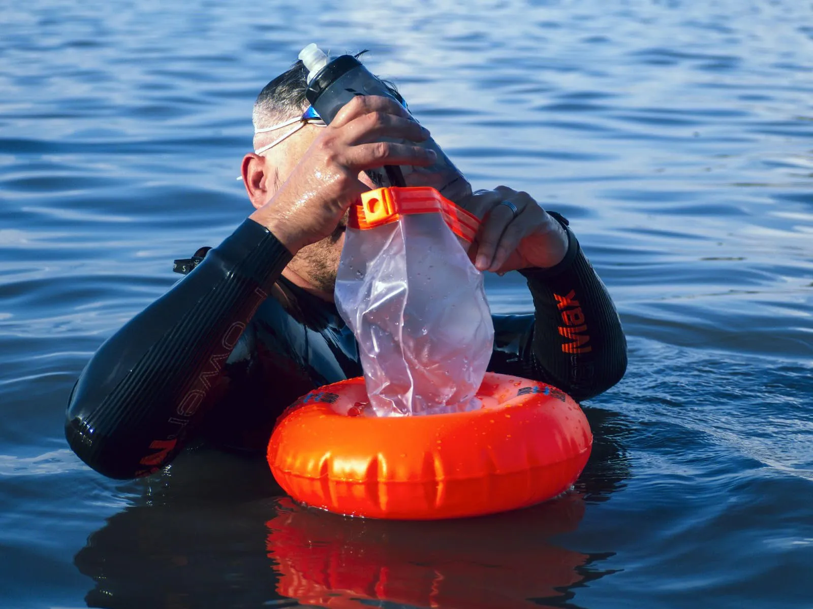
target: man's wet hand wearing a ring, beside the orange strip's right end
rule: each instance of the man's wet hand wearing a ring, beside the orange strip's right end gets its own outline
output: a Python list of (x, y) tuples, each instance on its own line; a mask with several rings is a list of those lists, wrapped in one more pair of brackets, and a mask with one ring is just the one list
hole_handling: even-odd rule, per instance
[[(515, 205), (516, 218), (502, 201)], [(478, 190), (461, 206), (483, 220), (469, 249), (478, 270), (550, 268), (567, 253), (567, 233), (527, 192), (506, 186)]]

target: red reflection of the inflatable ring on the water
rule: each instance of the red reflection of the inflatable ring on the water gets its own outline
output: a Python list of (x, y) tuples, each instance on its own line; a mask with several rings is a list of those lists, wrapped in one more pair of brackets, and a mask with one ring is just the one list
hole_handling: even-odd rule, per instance
[[(277, 592), (303, 605), (368, 609), (361, 600), (417, 607), (506, 609), (563, 598), (590, 557), (548, 539), (585, 512), (571, 493), (533, 508), (465, 520), (363, 520), (279, 503), (267, 524)], [(537, 599), (534, 603), (530, 599)]]

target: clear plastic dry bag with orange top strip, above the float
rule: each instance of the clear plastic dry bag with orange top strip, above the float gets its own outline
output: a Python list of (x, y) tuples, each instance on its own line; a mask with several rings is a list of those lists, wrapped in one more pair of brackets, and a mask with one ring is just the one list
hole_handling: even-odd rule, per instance
[(479, 224), (430, 187), (379, 188), (350, 208), (335, 298), (377, 416), (480, 407), (494, 330), (462, 245)]

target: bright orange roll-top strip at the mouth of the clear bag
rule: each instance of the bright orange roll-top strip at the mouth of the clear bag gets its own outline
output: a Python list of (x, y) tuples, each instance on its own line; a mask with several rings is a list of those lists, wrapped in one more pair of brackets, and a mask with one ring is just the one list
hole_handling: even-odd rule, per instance
[(350, 205), (348, 225), (366, 230), (395, 222), (406, 214), (440, 213), (455, 235), (471, 243), (480, 219), (455, 205), (431, 186), (376, 188), (364, 192), (361, 201)]

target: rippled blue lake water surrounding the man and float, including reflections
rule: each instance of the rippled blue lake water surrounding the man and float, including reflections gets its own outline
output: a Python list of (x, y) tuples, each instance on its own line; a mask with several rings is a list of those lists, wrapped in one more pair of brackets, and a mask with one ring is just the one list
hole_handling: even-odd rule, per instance
[[(810, 2), (4, 4), (2, 607), (813, 607)], [(67, 449), (91, 354), (249, 213), (254, 96), (311, 41), (570, 218), (630, 364), (569, 495), (352, 520), (262, 459), (123, 483)], [(494, 310), (530, 309), (515, 275)]]

